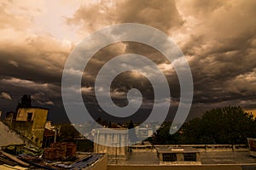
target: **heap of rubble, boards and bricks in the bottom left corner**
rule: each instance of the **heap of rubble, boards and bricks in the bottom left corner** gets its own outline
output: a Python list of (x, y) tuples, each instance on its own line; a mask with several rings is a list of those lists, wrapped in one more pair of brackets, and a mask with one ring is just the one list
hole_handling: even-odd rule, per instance
[[(73, 143), (53, 143), (43, 149), (25, 144), (9, 144), (0, 147), (0, 169), (5, 170), (63, 170), (87, 169), (104, 154), (77, 152)], [(106, 164), (107, 165), (107, 164)]]

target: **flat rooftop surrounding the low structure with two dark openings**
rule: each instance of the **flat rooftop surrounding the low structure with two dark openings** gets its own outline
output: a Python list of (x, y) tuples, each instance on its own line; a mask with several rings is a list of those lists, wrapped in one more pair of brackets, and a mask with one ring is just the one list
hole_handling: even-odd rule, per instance
[(157, 150), (160, 152), (169, 152), (171, 153), (172, 151), (174, 152), (179, 152), (179, 151), (200, 151), (201, 152), (201, 164), (202, 165), (233, 165), (233, 164), (241, 164), (241, 165), (247, 165), (247, 164), (252, 164), (255, 166), (256, 169), (256, 157), (249, 156), (249, 153), (247, 150), (238, 150), (238, 151), (232, 151), (232, 150), (227, 150), (224, 148), (223, 150), (221, 149), (216, 149), (216, 150), (198, 150), (198, 149), (193, 149), (193, 148), (177, 148), (175, 150), (172, 150), (172, 147), (167, 147), (167, 146), (158, 146), (156, 149), (151, 148), (151, 149), (132, 149), (131, 152), (129, 153), (129, 156), (126, 161), (121, 161), (121, 160), (112, 160), (108, 161), (109, 164), (115, 164), (118, 162), (118, 164), (123, 164), (123, 165), (159, 165), (160, 161), (157, 156)]

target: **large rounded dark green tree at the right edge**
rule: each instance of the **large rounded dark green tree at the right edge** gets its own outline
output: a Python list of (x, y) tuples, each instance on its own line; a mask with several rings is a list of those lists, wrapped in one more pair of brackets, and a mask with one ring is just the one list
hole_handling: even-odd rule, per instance
[(241, 107), (227, 106), (204, 112), (183, 126), (184, 140), (191, 144), (247, 144), (256, 138), (253, 115)]

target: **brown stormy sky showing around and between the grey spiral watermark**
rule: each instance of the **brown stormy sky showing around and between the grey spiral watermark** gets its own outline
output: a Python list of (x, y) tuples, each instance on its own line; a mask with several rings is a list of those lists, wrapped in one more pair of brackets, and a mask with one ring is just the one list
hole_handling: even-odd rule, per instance
[[(256, 109), (256, 1), (254, 0), (119, 0), (1, 1), (0, 111), (15, 111), (22, 94), (32, 105), (49, 108), (49, 119), (67, 120), (61, 100), (61, 76), (72, 50), (104, 26), (140, 23), (165, 32), (189, 62), (194, 99), (189, 118), (224, 105)], [(82, 94), (90, 98), (96, 70), (119, 54), (147, 56), (168, 77), (175, 111), (177, 74), (154, 48), (119, 42), (98, 51), (86, 67)], [(85, 73), (86, 71), (84, 71)], [(130, 88), (145, 90), (144, 109), (152, 105), (152, 87), (142, 75), (126, 72), (112, 84), (113, 101), (126, 105)], [(149, 105), (149, 106), (147, 106)], [(172, 117), (172, 116), (171, 116)]]

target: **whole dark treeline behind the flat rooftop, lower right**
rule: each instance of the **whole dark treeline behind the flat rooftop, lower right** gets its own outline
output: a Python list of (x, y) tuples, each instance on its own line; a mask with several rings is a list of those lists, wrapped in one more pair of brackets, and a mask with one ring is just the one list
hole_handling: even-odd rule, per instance
[(206, 111), (172, 135), (171, 124), (164, 122), (147, 140), (153, 144), (247, 144), (247, 138), (256, 138), (253, 115), (236, 106)]

